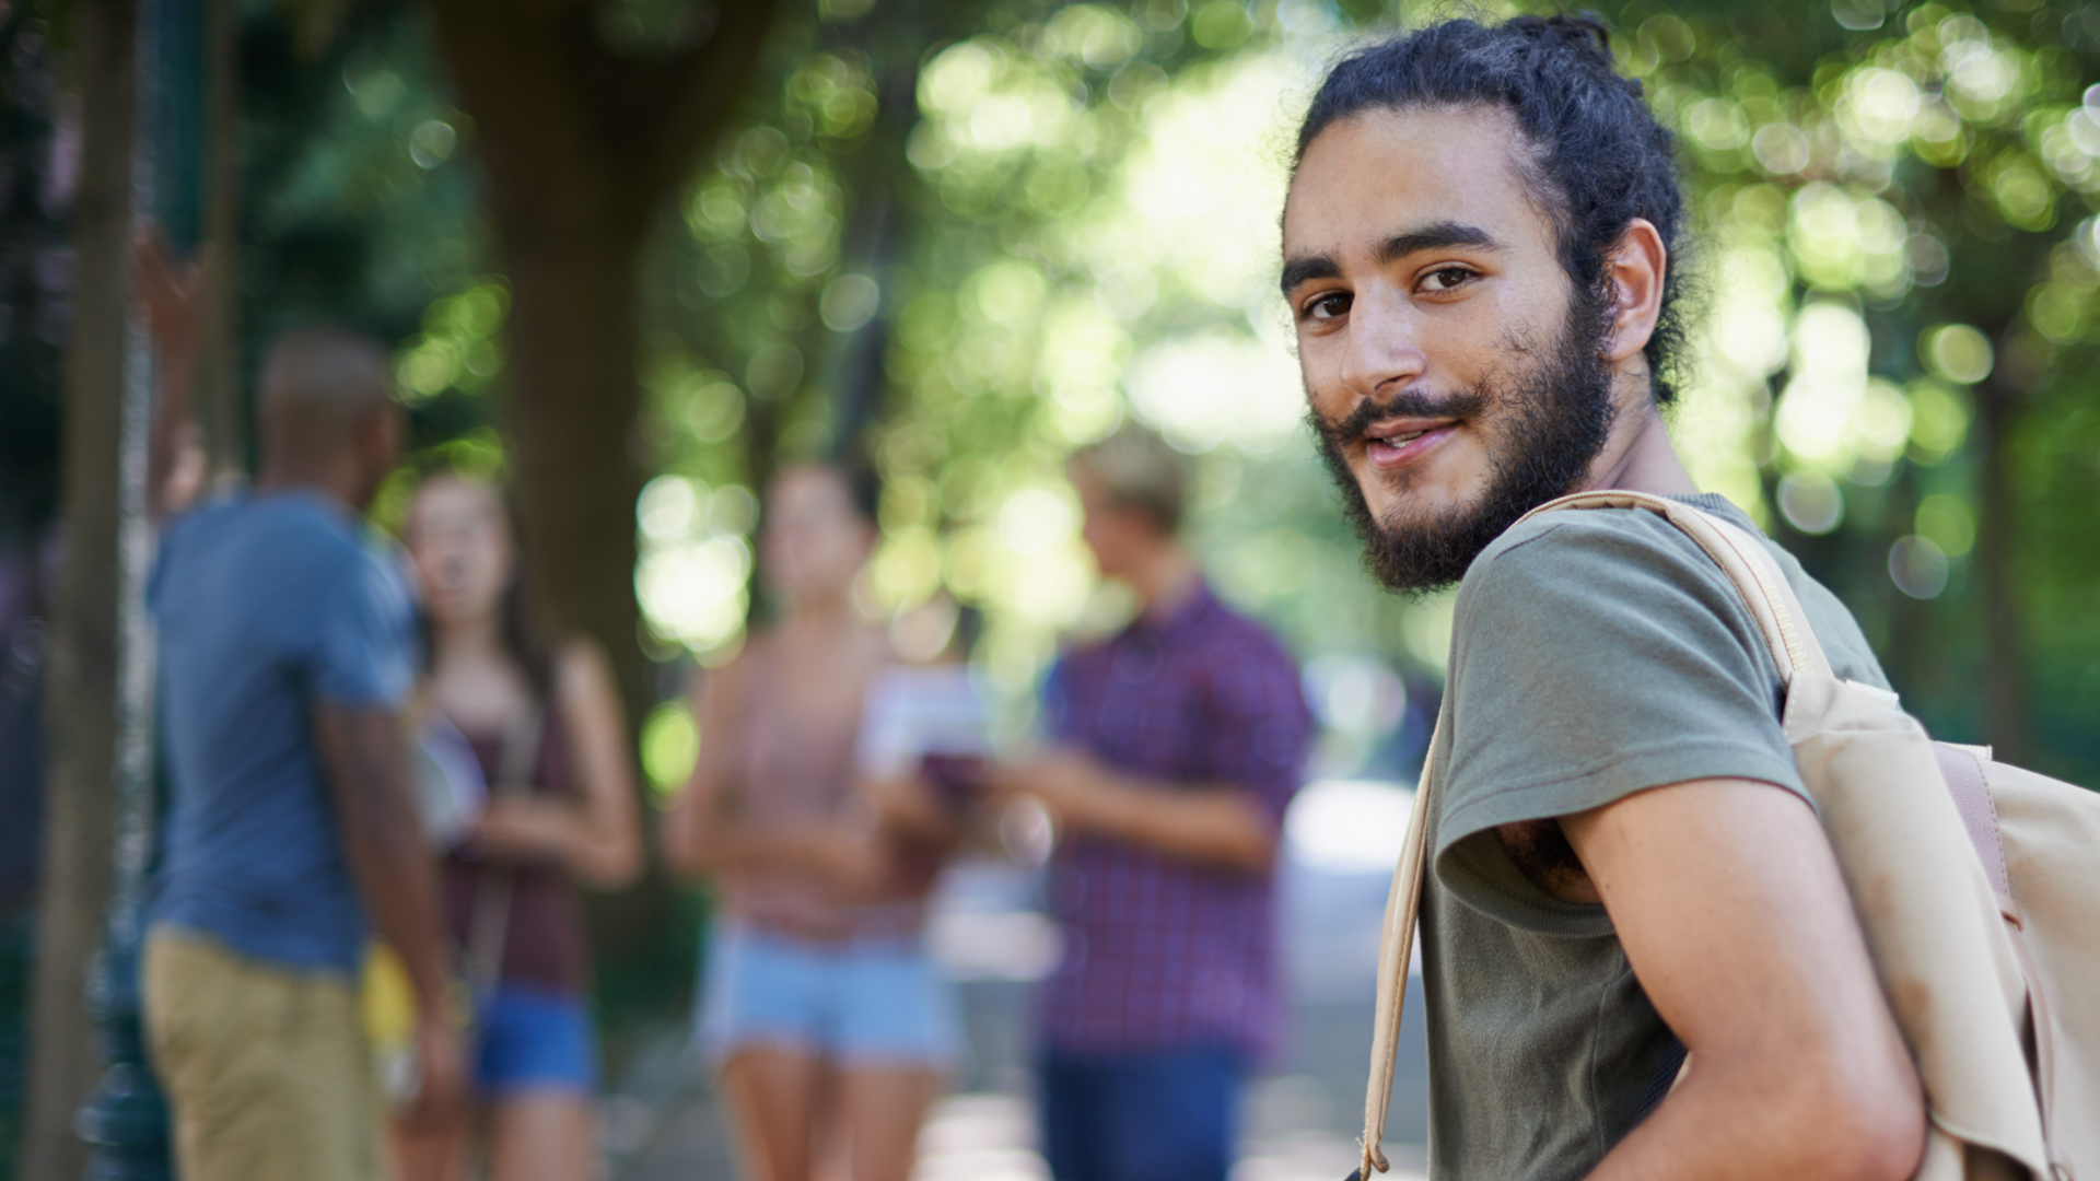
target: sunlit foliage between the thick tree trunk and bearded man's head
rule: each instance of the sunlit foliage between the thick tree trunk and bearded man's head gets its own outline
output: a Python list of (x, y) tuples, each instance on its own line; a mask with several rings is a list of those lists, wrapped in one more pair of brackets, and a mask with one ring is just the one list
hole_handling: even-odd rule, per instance
[[(842, 44), (846, 29), (821, 23), (783, 34), (800, 63), (777, 69), (779, 97), (760, 92), (750, 126), (724, 137), (716, 166), (695, 179), (682, 210), (689, 254), (659, 267), (672, 279), (664, 303), (695, 315), (659, 313), (670, 330), (655, 338), (651, 435), (687, 485), (729, 481), (746, 494), (769, 471), (754, 448), (773, 462), (838, 450), (840, 393), (855, 380), (844, 366), (867, 364), (844, 343), (861, 330), (863, 301), (880, 296), (886, 414), (861, 450), (886, 475), (888, 496), (869, 597), (886, 609), (932, 595), (985, 607), (983, 658), (1023, 698), (1058, 635), (1107, 609), (1092, 603), (1060, 458), (1124, 418), (1126, 370), (1140, 410), (1170, 416), (1178, 441), (1224, 448), (1205, 475), (1212, 485), (1237, 479), (1243, 452), (1296, 450), (1296, 378), (1266, 305), (1273, 204), (1233, 193), (1222, 216), (1174, 208), (1231, 189), (1250, 162), (1270, 172), (1258, 191), (1281, 195), (1264, 137), (1277, 122), (1281, 67), (1256, 59), (1262, 67), (1250, 74), (1233, 57), (1279, 25), (1237, 4), (1199, 8), (1191, 21), (1172, 2), (934, 17), (909, 53), (859, 57)], [(953, 42), (926, 32), (943, 19)], [(884, 8), (867, 21), (909, 27)], [(867, 168), (853, 160), (865, 156), (861, 143), (827, 139), (811, 111), (825, 86), (901, 107), (878, 103), (869, 130), (901, 116), (907, 166)], [(865, 109), (863, 99), (825, 92)], [(1195, 149), (1161, 145), (1168, 137), (1147, 122), (1149, 109), (1178, 120), (1172, 132)], [(1205, 168), (1201, 179), (1180, 174), (1191, 162)], [(863, 263), (850, 258), (848, 227), (876, 202), (903, 223), (903, 242)], [(1210, 378), (1222, 387), (1201, 389)], [(1237, 401), (1220, 408), (1220, 393)], [(1338, 542), (1308, 551), (1334, 574), (1315, 590), (1334, 595), (1298, 601), (1340, 595), (1357, 616), (1384, 609), (1354, 576), (1334, 513), (1321, 511), (1317, 473), (1302, 454), (1279, 462), (1294, 473), (1294, 502), (1312, 509), (1279, 517), (1279, 530), (1296, 536), (1315, 517), (1310, 527)], [(691, 500), (662, 488), (645, 496), (645, 607), (666, 637), (699, 639), (704, 660), (720, 658), (737, 643), (737, 612), (695, 586), (731, 595), (735, 582), (741, 595), (733, 576), (748, 569), (748, 546), (724, 544), (706, 515), (680, 517), (695, 521), (691, 534), (651, 525), (672, 517), (649, 513), (657, 496)], [(1260, 561), (1237, 569), (1258, 605), (1292, 599)], [(1300, 639), (1321, 637), (1308, 628)]]

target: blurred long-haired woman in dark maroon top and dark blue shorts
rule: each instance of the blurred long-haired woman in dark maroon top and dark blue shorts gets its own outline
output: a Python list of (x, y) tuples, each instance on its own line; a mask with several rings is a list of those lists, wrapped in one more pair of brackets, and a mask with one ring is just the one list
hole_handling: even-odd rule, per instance
[(605, 654), (544, 645), (498, 490), (426, 477), (407, 511), (424, 593), (424, 746), (466, 759), (479, 801), (445, 855), (445, 918), (475, 986), (475, 1107), (452, 1126), (397, 1126), (403, 1181), (464, 1179), (477, 1141), (494, 1181), (594, 1177), (596, 1044), (575, 887), (640, 870), (626, 723)]

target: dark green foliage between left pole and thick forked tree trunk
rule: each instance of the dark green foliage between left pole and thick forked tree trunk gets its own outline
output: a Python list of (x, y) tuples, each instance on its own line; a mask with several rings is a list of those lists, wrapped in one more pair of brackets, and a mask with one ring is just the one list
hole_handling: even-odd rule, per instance
[(244, 389), (279, 332), (332, 319), (401, 349), (418, 450), (487, 431), (508, 288), (485, 275), (472, 120), (401, 0), (298, 34), (269, 8), (242, 25)]

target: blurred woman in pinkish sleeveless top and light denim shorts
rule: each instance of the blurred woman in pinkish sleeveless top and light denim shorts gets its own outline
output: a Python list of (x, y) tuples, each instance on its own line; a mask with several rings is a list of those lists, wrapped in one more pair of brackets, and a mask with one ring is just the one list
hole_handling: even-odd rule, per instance
[[(664, 817), (664, 859), (720, 891), (699, 1038), (754, 1181), (905, 1181), (960, 1036), (924, 950), (953, 824), (855, 748), (897, 658), (853, 607), (876, 492), (796, 467), (766, 492), (758, 569), (777, 626), (701, 683), (701, 759)], [(830, 1168), (825, 1168), (830, 1173)]]

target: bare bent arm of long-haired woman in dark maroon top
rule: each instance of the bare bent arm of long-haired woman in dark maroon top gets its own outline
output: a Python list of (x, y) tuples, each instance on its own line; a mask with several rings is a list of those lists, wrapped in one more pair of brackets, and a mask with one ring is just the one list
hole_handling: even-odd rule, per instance
[(640, 811), (620, 691), (594, 643), (578, 641), (561, 651), (554, 710), (569, 738), (580, 799), (496, 801), (475, 822), (475, 847), (494, 855), (550, 857), (582, 885), (620, 889), (643, 868)]

